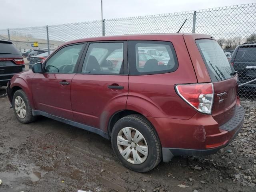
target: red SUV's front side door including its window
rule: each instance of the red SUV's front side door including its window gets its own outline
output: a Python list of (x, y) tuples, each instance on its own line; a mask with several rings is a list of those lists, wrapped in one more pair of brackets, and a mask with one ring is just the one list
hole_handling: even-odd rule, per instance
[(73, 120), (70, 84), (77, 70), (84, 44), (65, 46), (44, 63), (42, 73), (35, 74), (32, 94), (36, 110)]

